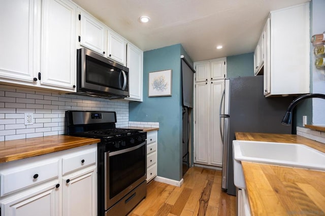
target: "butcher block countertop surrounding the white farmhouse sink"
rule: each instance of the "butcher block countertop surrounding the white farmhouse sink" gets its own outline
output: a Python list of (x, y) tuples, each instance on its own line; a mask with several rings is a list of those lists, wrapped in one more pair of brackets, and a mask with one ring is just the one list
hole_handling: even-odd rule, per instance
[[(236, 132), (237, 140), (325, 144), (292, 134)], [(290, 153), (288, 153), (290, 154)], [(325, 172), (242, 162), (252, 215), (325, 215)]]

